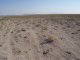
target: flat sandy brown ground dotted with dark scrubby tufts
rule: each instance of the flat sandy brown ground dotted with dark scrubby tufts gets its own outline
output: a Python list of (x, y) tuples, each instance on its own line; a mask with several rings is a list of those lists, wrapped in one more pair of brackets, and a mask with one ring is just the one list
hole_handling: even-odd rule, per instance
[(80, 15), (0, 17), (0, 60), (80, 60)]

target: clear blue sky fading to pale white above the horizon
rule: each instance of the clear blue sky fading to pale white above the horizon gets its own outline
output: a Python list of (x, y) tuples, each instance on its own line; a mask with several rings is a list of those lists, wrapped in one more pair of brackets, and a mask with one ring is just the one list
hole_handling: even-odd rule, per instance
[(0, 15), (80, 14), (80, 0), (0, 0)]

